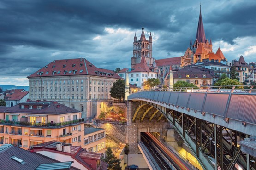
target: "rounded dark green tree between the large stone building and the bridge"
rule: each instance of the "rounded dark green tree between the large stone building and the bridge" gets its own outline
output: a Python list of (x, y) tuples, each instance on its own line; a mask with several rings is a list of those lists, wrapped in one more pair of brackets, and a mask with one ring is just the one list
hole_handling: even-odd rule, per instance
[(122, 98), (125, 98), (125, 80), (116, 80), (109, 92), (111, 97), (121, 101)]

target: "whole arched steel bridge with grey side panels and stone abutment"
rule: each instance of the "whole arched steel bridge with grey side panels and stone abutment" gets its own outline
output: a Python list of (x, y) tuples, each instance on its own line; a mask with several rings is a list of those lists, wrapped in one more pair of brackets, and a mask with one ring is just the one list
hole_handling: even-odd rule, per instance
[(250, 89), (171, 89), (128, 97), (127, 141), (138, 154), (141, 132), (170, 125), (205, 170), (256, 170), (256, 93)]

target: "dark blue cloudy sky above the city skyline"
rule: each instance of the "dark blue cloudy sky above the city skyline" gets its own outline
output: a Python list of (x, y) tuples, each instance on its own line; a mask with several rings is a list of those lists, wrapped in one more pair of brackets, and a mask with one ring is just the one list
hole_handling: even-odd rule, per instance
[[(256, 62), (256, 1), (201, 0), (206, 38), (228, 61)], [(0, 84), (58, 59), (85, 57), (99, 68), (129, 68), (142, 24), (155, 59), (182, 56), (195, 40), (200, 0), (1, 0)]]

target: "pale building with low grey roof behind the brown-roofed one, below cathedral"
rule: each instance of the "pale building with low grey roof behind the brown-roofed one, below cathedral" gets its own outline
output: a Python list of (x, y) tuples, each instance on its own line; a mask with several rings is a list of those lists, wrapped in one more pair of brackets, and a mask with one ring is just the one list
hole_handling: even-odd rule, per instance
[(228, 78), (230, 78), (230, 66), (226, 65), (226, 62), (220, 63), (220, 62), (209, 62), (208, 59), (203, 60), (202, 62), (197, 62), (195, 64), (191, 64), (186, 67), (198, 67), (198, 68), (208, 68), (213, 70), (214, 76), (212, 77), (212, 84), (218, 81), (218, 79), (221, 77), (222, 74), (226, 74)]

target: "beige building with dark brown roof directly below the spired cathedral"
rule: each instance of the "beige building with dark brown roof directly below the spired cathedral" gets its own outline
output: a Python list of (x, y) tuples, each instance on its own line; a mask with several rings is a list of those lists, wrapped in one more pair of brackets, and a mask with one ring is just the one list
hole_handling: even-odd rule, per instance
[(212, 85), (213, 70), (208, 68), (184, 67), (173, 73), (173, 84), (177, 81), (193, 83), (197, 87)]

